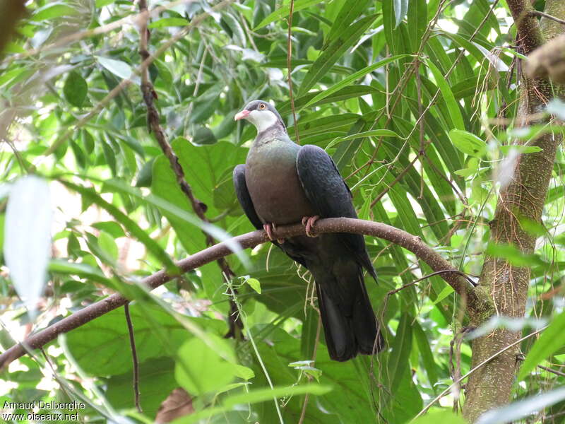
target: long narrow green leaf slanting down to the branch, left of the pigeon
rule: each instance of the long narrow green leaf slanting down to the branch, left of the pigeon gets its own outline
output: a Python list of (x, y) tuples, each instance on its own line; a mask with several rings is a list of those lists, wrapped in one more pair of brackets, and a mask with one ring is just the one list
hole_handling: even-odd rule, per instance
[(88, 201), (90, 201), (91, 203), (97, 204), (101, 208), (105, 209), (110, 215), (117, 219), (119, 223), (121, 223), (121, 225), (124, 225), (124, 227), (131, 233), (131, 235), (142, 242), (143, 245), (147, 247), (148, 251), (161, 261), (167, 271), (169, 271), (170, 273), (177, 272), (177, 266), (174, 264), (167, 252), (165, 252), (165, 250), (162, 249), (162, 247), (160, 247), (160, 245), (155, 242), (155, 240), (153, 240), (147, 234), (147, 232), (142, 230), (134, 220), (129, 218), (129, 216), (126, 216), (125, 213), (121, 212), (119, 208), (102, 199), (102, 197), (100, 197), (100, 195), (97, 194), (93, 189), (81, 187), (77, 184), (73, 184), (72, 182), (68, 182), (63, 179), (60, 179), (59, 181), (66, 187), (69, 187), (69, 189), (80, 193), (83, 198), (88, 199)]

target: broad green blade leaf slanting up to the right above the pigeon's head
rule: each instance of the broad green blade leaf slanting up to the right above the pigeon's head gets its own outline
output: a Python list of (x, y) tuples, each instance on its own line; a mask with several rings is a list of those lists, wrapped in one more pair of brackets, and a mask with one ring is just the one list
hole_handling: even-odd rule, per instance
[(338, 61), (343, 53), (345, 53), (347, 49), (359, 40), (362, 33), (371, 26), (371, 23), (373, 23), (375, 19), (376, 15), (361, 18), (353, 25), (345, 28), (343, 33), (337, 35), (337, 38), (331, 42), (328, 48), (325, 49), (320, 57), (314, 61), (314, 64), (310, 66), (310, 69), (306, 76), (304, 76), (304, 80), (302, 80), (302, 84), (298, 90), (299, 95), (304, 95), (314, 86), (315, 83), (320, 81), (320, 79), (326, 75), (331, 66)]

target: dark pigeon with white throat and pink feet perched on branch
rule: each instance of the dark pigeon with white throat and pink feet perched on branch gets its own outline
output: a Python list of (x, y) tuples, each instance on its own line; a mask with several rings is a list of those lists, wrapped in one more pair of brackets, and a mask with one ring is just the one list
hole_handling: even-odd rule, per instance
[[(246, 163), (234, 168), (239, 204), (257, 229), (288, 257), (306, 267), (316, 282), (326, 346), (332, 360), (384, 348), (363, 270), (376, 281), (362, 235), (315, 234), (319, 218), (357, 218), (349, 187), (322, 148), (299, 146), (287, 134), (283, 119), (263, 100), (249, 102), (234, 117), (257, 129)], [(277, 225), (302, 222), (307, 235), (276, 240)]]

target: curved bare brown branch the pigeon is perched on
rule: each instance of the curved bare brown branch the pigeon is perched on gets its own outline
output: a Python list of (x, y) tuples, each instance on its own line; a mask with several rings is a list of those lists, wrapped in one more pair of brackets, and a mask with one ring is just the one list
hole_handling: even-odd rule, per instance
[[(314, 229), (317, 234), (323, 232), (352, 232), (372, 235), (404, 247), (428, 264), (434, 271), (442, 271), (441, 278), (451, 285), (453, 290), (466, 300), (467, 307), (471, 312), (488, 312), (491, 310), (489, 298), (487, 298), (486, 295), (482, 295), (480, 288), (473, 288), (472, 285), (465, 280), (465, 278), (460, 276), (460, 271), (453, 269), (453, 266), (451, 266), (448, 261), (441, 257), (441, 255), (432, 249), (432, 247), (429, 247), (422, 242), (420, 237), (411, 235), (410, 233), (398, 228), (391, 227), (391, 225), (353, 218), (321, 219), (316, 222)], [(304, 225), (302, 224), (280, 226), (274, 231), (275, 238), (278, 239), (304, 234)], [(261, 243), (268, 242), (268, 237), (266, 232), (263, 230), (257, 230), (233, 237), (231, 241), (239, 243), (243, 249), (246, 249), (248, 247), (255, 247)], [(221, 242), (179, 261), (177, 266), (182, 270), (182, 272), (186, 272), (191, 269), (198, 268), (198, 266), (208, 264), (208, 262), (218, 260), (231, 253), (232, 250), (227, 247), (227, 243)], [(446, 272), (448, 270), (452, 270), (453, 272)], [(153, 290), (173, 278), (175, 278), (174, 275), (169, 275), (162, 270), (144, 278), (141, 284), (144, 284)], [(36, 349), (40, 346), (44, 346), (44, 344), (57, 338), (59, 334), (76, 329), (77, 327), (86, 324), (87, 322), (90, 322), (111, 310), (125, 305), (127, 302), (129, 302), (127, 298), (116, 293), (95, 302), (92, 305), (88, 305), (83, 310), (61, 319), (61, 321), (48, 326), (46, 329), (37, 331), (37, 333), (28, 336), (23, 343), (18, 343), (17, 345), (12, 346), (0, 355), (0, 370), (4, 369), (4, 367), (13, 360), (24, 355), (26, 349)]]

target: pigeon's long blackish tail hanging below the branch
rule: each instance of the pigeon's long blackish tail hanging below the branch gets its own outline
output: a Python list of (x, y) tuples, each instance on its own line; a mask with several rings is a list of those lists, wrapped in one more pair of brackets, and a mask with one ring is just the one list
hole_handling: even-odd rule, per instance
[(333, 360), (349, 360), (357, 353), (371, 355), (384, 347), (362, 269), (356, 268), (354, 275), (347, 273), (350, 278), (336, 277), (327, 272), (317, 278), (314, 275), (323, 332)]

